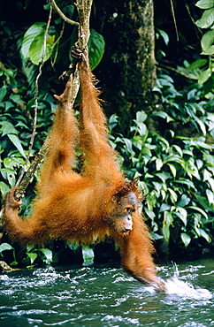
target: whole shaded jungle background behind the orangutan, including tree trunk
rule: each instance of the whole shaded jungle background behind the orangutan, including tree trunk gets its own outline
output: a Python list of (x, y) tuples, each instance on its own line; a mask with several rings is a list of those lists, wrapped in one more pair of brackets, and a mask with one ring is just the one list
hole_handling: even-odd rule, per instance
[[(77, 19), (71, 1), (57, 5)], [(1, 2), (1, 199), (15, 185), (27, 154), (49, 11), (42, 0)], [(103, 91), (110, 141), (127, 177), (139, 179), (146, 195), (142, 210), (159, 258), (197, 257), (213, 250), (213, 12), (213, 0), (176, 0), (173, 8), (169, 0), (95, 0), (92, 8), (89, 56)], [(50, 130), (53, 95), (63, 90), (58, 77), (70, 64), (76, 35), (73, 26), (52, 13), (31, 159)], [(23, 216), (29, 214), (36, 179), (37, 174), (23, 199)], [(119, 261), (111, 241), (93, 249), (97, 263)], [(20, 247), (3, 234), (0, 255), (23, 266), (81, 263), (90, 260), (91, 251), (62, 241)]]

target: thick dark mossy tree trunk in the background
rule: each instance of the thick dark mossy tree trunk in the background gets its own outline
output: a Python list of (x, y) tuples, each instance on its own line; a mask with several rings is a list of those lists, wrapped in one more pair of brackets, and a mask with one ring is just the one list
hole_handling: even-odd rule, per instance
[[(95, 0), (96, 30), (106, 42), (96, 70), (107, 100), (107, 114), (149, 112), (155, 103), (155, 32), (152, 0)], [(126, 112), (125, 112), (126, 111)]]

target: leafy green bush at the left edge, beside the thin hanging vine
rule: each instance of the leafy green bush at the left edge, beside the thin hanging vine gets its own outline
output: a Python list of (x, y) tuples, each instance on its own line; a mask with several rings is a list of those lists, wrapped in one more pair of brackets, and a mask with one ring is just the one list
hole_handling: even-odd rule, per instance
[[(21, 167), (25, 163), (28, 142), (32, 133), (34, 98), (27, 83), (20, 82), (17, 72), (2, 67), (2, 88), (0, 93), (0, 135), (1, 135), (1, 175), (0, 192), (3, 197), (10, 187), (15, 185)], [(28, 95), (29, 93), (30, 95)], [(34, 153), (42, 146), (42, 139), (48, 134), (51, 124), (51, 107), (48, 99), (42, 95), (39, 104), (37, 133), (39, 138), (34, 144)]]

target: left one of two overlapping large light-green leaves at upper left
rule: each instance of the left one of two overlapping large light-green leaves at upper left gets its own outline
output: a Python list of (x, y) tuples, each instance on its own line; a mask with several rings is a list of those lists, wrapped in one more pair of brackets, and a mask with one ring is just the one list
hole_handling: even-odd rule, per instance
[(24, 35), (21, 45), (21, 53), (24, 58), (30, 57), (29, 55), (30, 46), (34, 41), (34, 39), (36, 38), (36, 36), (42, 33), (43, 27), (45, 27), (45, 23), (37, 22), (27, 29), (27, 32)]

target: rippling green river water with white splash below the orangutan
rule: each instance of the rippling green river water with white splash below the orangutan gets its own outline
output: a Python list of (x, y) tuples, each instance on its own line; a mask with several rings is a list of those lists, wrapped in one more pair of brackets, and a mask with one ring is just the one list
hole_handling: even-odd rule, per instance
[(118, 268), (0, 274), (0, 326), (214, 326), (214, 260), (161, 265), (167, 293)]

